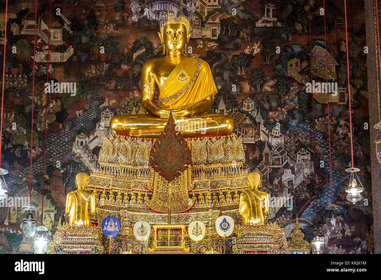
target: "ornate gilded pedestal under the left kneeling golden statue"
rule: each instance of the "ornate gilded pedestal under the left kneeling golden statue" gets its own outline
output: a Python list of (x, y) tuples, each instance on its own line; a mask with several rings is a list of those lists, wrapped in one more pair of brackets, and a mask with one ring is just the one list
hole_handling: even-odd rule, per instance
[(101, 254), (99, 227), (69, 226), (64, 223), (53, 237), (51, 254)]

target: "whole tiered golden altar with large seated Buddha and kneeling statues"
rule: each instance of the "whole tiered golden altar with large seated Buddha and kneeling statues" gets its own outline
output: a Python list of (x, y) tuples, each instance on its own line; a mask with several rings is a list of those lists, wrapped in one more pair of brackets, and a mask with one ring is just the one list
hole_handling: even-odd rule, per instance
[[(147, 114), (110, 120), (116, 134), (102, 137), (99, 167), (77, 174), (78, 190), (67, 195), (69, 226), (89, 234), (91, 224), (101, 226), (109, 253), (231, 253), (237, 231), (235, 253), (286, 253), (283, 230), (265, 226), (269, 197), (259, 173), (244, 168), (234, 119), (207, 113), (217, 88), (207, 62), (184, 56), (190, 35), (186, 18), (167, 15), (159, 32), (166, 55), (142, 67)], [(199, 229), (190, 238), (191, 222), (205, 238), (197, 239)]]

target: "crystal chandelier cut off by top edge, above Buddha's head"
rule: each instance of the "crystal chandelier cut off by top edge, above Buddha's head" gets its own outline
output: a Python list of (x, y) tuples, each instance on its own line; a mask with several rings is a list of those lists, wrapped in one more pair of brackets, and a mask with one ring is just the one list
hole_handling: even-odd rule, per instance
[[(186, 14), (183, 10), (186, 10)], [(177, 18), (180, 14), (185, 16), (189, 22), (194, 21), (196, 11), (196, 0), (186, 0), (184, 5), (182, 0), (131, 0), (132, 20), (137, 22), (139, 18), (147, 16), (149, 20), (160, 22)], [(143, 10), (143, 14), (140, 12)], [(171, 13), (168, 13), (171, 12)]]

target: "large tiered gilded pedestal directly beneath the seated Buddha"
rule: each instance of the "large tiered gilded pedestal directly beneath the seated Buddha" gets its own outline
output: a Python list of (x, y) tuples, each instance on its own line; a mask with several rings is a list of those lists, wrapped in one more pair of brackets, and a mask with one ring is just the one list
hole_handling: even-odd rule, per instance
[[(249, 188), (247, 170), (243, 168), (245, 154), (242, 138), (236, 135), (186, 138), (191, 149), (191, 165), (180, 177), (171, 182), (171, 222), (187, 226), (192, 221), (209, 221), (209, 193), (213, 194), (213, 221), (218, 216), (228, 215), (236, 224), (240, 223), (239, 195)], [(99, 168), (89, 177), (87, 189), (96, 197), (96, 215), (91, 218), (101, 224), (107, 216), (115, 216), (121, 221), (127, 219), (132, 224), (139, 220), (154, 225), (168, 224), (169, 186), (165, 178), (149, 164), (150, 150), (157, 139), (133, 138), (120, 135), (103, 136), (99, 152)], [(123, 197), (126, 194), (126, 210)], [(118, 198), (119, 197), (119, 198)], [(184, 205), (184, 201), (186, 205)], [(156, 203), (153, 203), (156, 202)], [(184, 211), (186, 210), (186, 211)], [(126, 212), (126, 218), (124, 213)], [(226, 251), (231, 251), (234, 234), (226, 239)], [(183, 235), (190, 252), (195, 253), (195, 243), (188, 234)], [(101, 243), (108, 248), (108, 240), (100, 234)], [(171, 235), (171, 246), (179, 242), (179, 237)], [(143, 253), (155, 244), (154, 230)], [(141, 252), (141, 242), (132, 233), (122, 234), (113, 239), (111, 252)], [(197, 246), (198, 253), (211, 250), (211, 237), (205, 238)], [(213, 237), (213, 250), (223, 248), (223, 238)]]

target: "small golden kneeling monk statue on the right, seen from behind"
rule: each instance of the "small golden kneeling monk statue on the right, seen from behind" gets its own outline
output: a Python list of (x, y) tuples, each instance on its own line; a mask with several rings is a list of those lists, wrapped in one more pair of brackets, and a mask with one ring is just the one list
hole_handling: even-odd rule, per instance
[(242, 192), (239, 201), (242, 226), (263, 226), (266, 222), (263, 213), (269, 213), (269, 196), (267, 192), (258, 189), (261, 184), (261, 175), (258, 172), (249, 173), (247, 178), (250, 190)]

